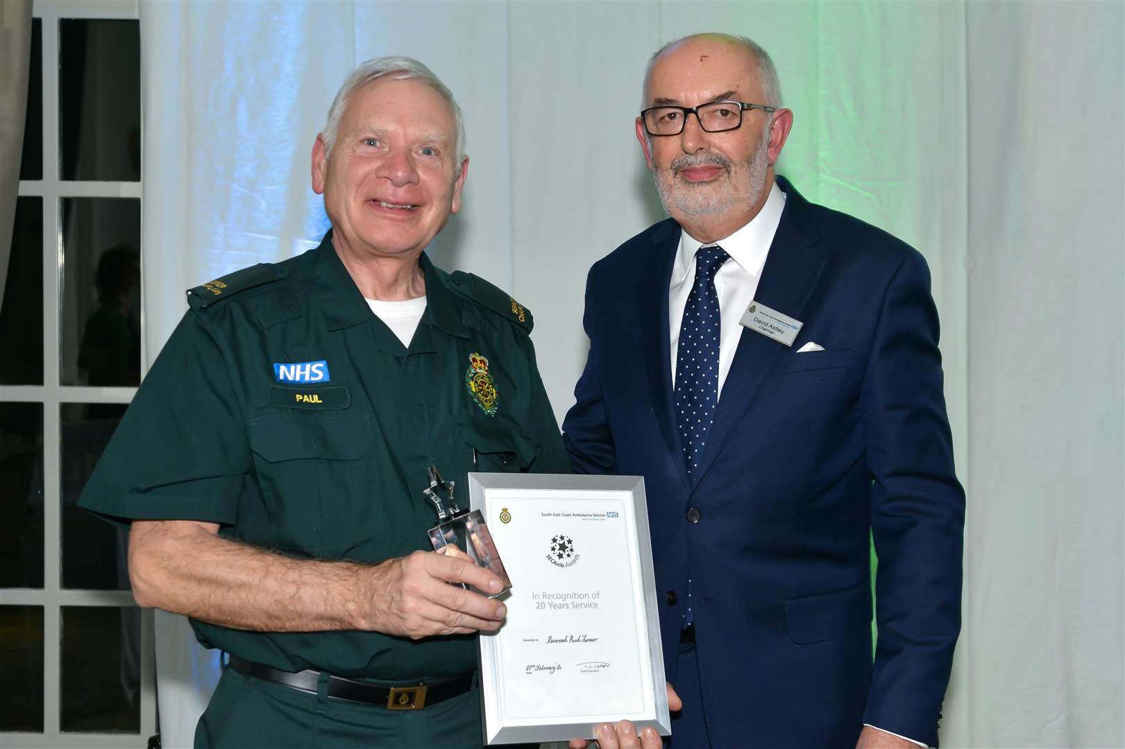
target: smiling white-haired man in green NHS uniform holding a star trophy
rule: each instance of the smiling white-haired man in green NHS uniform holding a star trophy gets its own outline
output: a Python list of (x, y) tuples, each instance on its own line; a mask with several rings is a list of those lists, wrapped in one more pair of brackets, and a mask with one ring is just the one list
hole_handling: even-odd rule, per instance
[[(569, 464), (528, 334), (496, 287), (423, 250), (460, 208), (460, 110), (374, 60), (313, 148), (318, 247), (191, 289), (81, 505), (132, 522), (134, 596), (231, 667), (197, 747), (469, 747), (490, 571), (432, 551), (428, 466)], [(466, 504), (466, 497), (459, 497)]]

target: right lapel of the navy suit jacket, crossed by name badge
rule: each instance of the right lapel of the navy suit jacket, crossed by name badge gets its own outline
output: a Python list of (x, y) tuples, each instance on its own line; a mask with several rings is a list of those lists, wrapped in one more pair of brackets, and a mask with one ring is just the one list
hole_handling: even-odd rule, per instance
[[(785, 209), (770, 245), (754, 300), (803, 321), (804, 306), (820, 279), (826, 259), (818, 249), (818, 235), (804, 224), (808, 202), (789, 182), (782, 179), (778, 182), (788, 196)], [(770, 371), (774, 357), (783, 348), (785, 344), (760, 333), (742, 330), (693, 486), (706, 475), (735, 427), (741, 422), (762, 379)]]

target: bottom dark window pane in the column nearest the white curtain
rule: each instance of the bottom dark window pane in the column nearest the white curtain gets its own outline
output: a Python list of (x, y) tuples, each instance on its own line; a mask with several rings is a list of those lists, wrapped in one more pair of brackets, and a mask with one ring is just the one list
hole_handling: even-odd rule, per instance
[(62, 607), (63, 731), (141, 730), (141, 610)]

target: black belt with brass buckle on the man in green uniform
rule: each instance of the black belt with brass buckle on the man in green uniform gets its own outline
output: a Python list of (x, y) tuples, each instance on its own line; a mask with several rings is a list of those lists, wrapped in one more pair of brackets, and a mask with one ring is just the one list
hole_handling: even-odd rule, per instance
[[(231, 656), (231, 668), (243, 676), (284, 684), (294, 689), (309, 694), (317, 693), (321, 671), (307, 669), (304, 671), (281, 671), (261, 664), (252, 664), (237, 656)], [(402, 686), (379, 686), (367, 682), (345, 679), (342, 676), (328, 676), (327, 695), (335, 700), (359, 702), (367, 705), (380, 705), (387, 710), (422, 710), (428, 705), (443, 702), (462, 695), (472, 688), (474, 673), (453, 676), (448, 679), (431, 679)]]

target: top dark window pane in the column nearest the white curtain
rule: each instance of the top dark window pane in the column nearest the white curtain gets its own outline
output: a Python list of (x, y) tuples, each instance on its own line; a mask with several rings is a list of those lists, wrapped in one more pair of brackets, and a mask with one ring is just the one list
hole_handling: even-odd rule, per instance
[(58, 151), (64, 180), (141, 179), (138, 24), (58, 21)]

